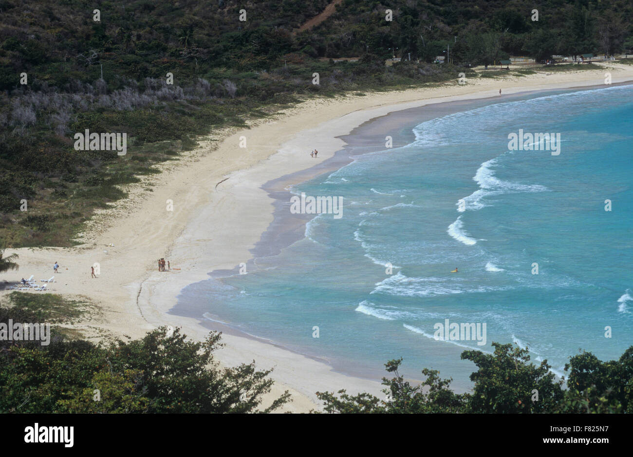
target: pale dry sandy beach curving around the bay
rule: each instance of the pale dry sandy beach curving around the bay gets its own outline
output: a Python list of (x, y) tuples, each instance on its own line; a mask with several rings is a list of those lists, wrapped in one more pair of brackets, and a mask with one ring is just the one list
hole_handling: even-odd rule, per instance
[[(203, 339), (208, 329), (198, 319), (168, 311), (186, 285), (252, 257), (250, 249), (273, 220), (272, 199), (261, 189), (263, 184), (310, 168), (316, 160), (327, 160), (344, 146), (337, 137), (391, 111), (486, 97), (503, 101), (504, 95), (518, 92), (602, 85), (605, 72), (611, 72), (613, 84), (633, 80), (633, 66), (595, 66), (596, 70), (579, 72), (478, 78), (465, 85), (455, 81), (408, 91), (309, 99), (268, 120), (251, 123), (250, 128), (212, 132), (180, 160), (160, 165), (157, 185), (143, 177), (140, 184), (126, 187), (129, 197), (99, 211), (84, 230), (80, 246), (7, 249), (6, 255), (20, 255), (20, 270), (0, 273), (0, 281), (8, 285), (30, 275), (38, 281), (48, 279), (57, 261), (60, 270), (54, 274), (55, 282), (42, 293), (87, 297), (96, 304), (101, 314), (77, 325), (87, 337), (137, 338), (160, 325), (172, 325), (182, 327), (192, 339)], [(241, 147), (244, 141), (246, 147)], [(315, 148), (319, 151), (316, 160), (310, 157)], [(173, 211), (168, 211), (170, 200)], [(172, 270), (158, 272), (156, 260), (163, 257)], [(95, 262), (101, 273), (91, 279)], [(380, 394), (382, 389), (375, 380), (335, 372), (325, 361), (258, 339), (224, 334), (223, 342), (226, 347), (216, 353), (223, 365), (255, 360), (258, 368), (274, 367), (270, 398), (285, 390), (292, 394), (292, 403), (284, 411), (318, 409), (316, 391)]]

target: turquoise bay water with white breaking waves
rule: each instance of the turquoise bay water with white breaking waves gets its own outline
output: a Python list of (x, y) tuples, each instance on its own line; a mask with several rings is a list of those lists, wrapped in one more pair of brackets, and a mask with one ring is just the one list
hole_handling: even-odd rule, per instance
[[(560, 133), (560, 155), (509, 151), (519, 129)], [(413, 133), (294, 186), (344, 197), (342, 218), (316, 216), (300, 241), (189, 300), (343, 371), (380, 375), (403, 357), (407, 375), (432, 367), (462, 388), (473, 365), (459, 354), (492, 341), (559, 374), (579, 348), (610, 360), (633, 344), (632, 86), (491, 101)], [(436, 341), (445, 319), (486, 323), (486, 345)]]

